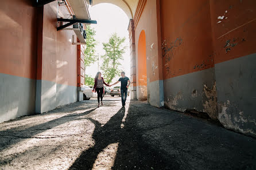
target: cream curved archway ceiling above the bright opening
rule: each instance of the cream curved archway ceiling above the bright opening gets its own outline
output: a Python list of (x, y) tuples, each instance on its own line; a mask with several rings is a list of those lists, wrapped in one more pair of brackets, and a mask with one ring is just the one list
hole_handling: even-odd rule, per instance
[(112, 3), (125, 11), (129, 19), (133, 19), (138, 1), (139, 0), (94, 0), (92, 1), (92, 6), (99, 3)]

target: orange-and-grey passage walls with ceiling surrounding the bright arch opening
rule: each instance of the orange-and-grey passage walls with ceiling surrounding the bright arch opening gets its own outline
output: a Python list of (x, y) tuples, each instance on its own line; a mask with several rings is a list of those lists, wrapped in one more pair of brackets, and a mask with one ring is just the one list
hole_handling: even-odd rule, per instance
[[(41, 4), (2, 2), (0, 122), (82, 100), (82, 23), (94, 22), (88, 6), (112, 3), (130, 19), (132, 99), (207, 113), (227, 128), (255, 136), (256, 1), (34, 2)], [(83, 31), (75, 34), (73, 23), (81, 23)]]

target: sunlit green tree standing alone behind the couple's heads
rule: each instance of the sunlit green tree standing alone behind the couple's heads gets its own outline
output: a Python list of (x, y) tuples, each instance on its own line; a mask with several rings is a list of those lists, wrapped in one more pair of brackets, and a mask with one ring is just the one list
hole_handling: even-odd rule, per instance
[(103, 43), (106, 54), (102, 56), (103, 65), (101, 69), (108, 84), (121, 72), (119, 69), (120, 60), (123, 60), (123, 54), (127, 48), (123, 45), (123, 42), (125, 42), (125, 37), (121, 38), (117, 33), (114, 33), (107, 43)]

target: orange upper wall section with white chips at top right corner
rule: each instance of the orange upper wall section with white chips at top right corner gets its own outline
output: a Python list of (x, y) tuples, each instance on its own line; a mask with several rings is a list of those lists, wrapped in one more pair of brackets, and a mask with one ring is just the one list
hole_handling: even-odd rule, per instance
[(210, 2), (215, 63), (256, 53), (256, 1)]

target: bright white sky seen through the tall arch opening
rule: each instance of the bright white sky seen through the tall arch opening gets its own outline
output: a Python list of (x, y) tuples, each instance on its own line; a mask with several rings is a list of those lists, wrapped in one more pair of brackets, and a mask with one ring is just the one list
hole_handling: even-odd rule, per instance
[[(116, 32), (119, 37), (126, 38), (125, 46), (127, 46), (127, 49), (126, 53), (123, 54), (124, 60), (121, 61), (121, 70), (124, 70), (126, 76), (130, 77), (129, 32), (127, 30), (129, 25), (129, 18), (121, 8), (110, 3), (100, 3), (98, 5), (92, 6), (90, 7), (89, 11), (91, 19), (98, 22), (98, 24), (91, 25), (96, 30), (95, 39), (98, 42), (98, 46), (96, 47), (96, 54), (99, 54), (100, 56), (104, 55), (105, 51), (103, 50), (102, 42), (107, 42), (111, 34)], [(99, 64), (101, 65), (102, 61), (100, 61)], [(99, 71), (102, 72), (100, 68)], [(89, 74), (92, 77), (95, 77), (97, 72), (98, 62), (86, 69), (86, 74)], [(119, 77), (120, 75), (117, 75), (112, 83), (117, 81)]]

